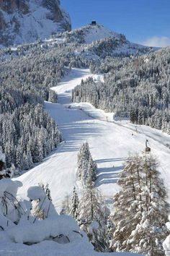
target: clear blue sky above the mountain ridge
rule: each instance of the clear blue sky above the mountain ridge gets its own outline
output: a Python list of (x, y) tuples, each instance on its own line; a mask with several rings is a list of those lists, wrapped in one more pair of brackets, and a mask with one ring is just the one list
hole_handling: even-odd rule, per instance
[(170, 45), (170, 0), (61, 0), (72, 27), (97, 20), (128, 40), (152, 46)]

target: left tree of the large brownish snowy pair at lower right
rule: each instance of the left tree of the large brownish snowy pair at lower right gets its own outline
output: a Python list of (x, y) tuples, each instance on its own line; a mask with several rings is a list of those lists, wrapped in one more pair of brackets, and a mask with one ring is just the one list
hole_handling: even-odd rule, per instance
[(138, 156), (128, 158), (117, 182), (120, 185), (120, 192), (117, 192), (114, 197), (115, 214), (110, 217), (110, 220), (115, 224), (110, 243), (113, 251), (115, 249), (122, 252), (130, 250), (129, 236), (141, 219), (140, 212), (136, 215), (138, 213), (137, 208), (140, 207), (139, 201), (142, 200), (140, 195), (142, 182), (140, 161), (141, 158)]

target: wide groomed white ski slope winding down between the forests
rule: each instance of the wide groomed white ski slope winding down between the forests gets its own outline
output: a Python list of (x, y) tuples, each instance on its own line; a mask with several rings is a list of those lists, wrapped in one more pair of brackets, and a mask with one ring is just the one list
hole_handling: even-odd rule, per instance
[(170, 187), (170, 150), (165, 146), (169, 135), (150, 127), (137, 133), (133, 131), (135, 126), (114, 121), (113, 114), (104, 113), (89, 103), (71, 103), (71, 90), (89, 76), (102, 79), (102, 76), (91, 74), (89, 69), (72, 69), (53, 88), (58, 92), (58, 103), (45, 102), (45, 106), (50, 116), (57, 121), (66, 142), (62, 142), (38, 166), (17, 178), (24, 184), (19, 190), (22, 196), (26, 196), (28, 187), (39, 182), (48, 183), (53, 203), (59, 212), (63, 198), (71, 195), (76, 184), (77, 153), (84, 141), (89, 142), (91, 155), (97, 162), (96, 186), (111, 210), (112, 197), (119, 189), (116, 182), (123, 163), (128, 155), (144, 150), (146, 138), (152, 153), (160, 161), (159, 169), (166, 188)]

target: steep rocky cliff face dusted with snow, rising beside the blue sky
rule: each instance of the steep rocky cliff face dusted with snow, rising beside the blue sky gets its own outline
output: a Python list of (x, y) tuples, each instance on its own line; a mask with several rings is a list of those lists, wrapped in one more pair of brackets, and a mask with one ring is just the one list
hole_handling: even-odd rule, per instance
[(30, 43), (71, 30), (59, 0), (0, 0), (0, 46)]

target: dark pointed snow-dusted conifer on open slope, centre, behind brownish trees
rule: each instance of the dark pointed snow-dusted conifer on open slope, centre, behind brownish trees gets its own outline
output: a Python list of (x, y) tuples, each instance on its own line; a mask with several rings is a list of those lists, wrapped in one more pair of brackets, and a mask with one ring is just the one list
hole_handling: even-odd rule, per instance
[(97, 164), (94, 163), (89, 151), (89, 144), (85, 142), (78, 154), (78, 170), (77, 177), (86, 184), (86, 181), (91, 177), (91, 181), (96, 180)]

